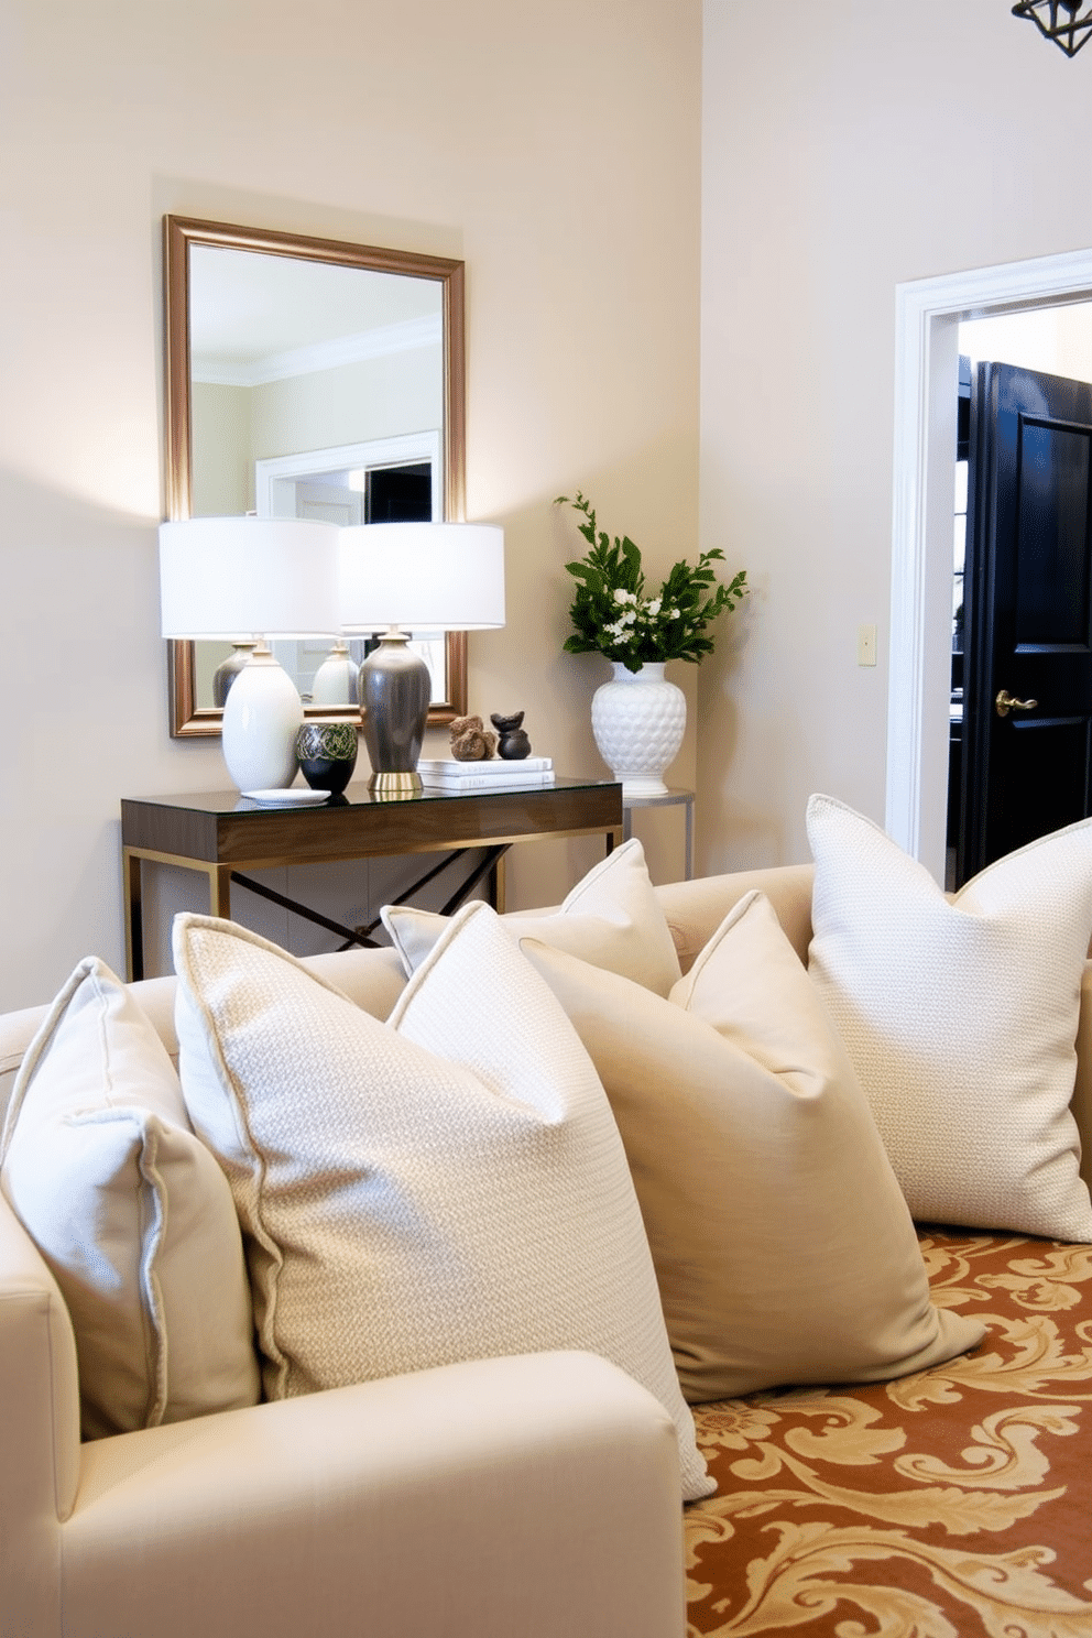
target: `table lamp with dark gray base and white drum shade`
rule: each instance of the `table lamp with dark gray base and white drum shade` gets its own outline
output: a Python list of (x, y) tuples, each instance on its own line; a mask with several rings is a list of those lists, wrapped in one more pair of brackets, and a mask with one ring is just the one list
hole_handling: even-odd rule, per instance
[(359, 676), (370, 790), (416, 794), (432, 676), (411, 652), (409, 634), (504, 624), (504, 531), (475, 523), (354, 524), (341, 531), (339, 585), (342, 631), (380, 634)]

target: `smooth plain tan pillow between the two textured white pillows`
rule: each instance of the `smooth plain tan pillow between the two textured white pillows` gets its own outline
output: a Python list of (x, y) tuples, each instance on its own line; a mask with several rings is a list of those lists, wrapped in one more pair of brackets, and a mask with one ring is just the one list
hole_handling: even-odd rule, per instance
[(981, 1342), (982, 1325), (930, 1302), (864, 1096), (761, 893), (668, 1001), (522, 950), (611, 1099), (691, 1402), (869, 1382)]

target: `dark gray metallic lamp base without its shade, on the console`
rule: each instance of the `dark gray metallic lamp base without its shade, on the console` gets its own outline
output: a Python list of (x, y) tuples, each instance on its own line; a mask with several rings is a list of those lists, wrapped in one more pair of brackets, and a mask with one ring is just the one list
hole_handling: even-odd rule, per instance
[(416, 796), (417, 757), (432, 699), (432, 673), (409, 652), (404, 631), (385, 632), (360, 667), (360, 719), (368, 747), (368, 790), (385, 796)]

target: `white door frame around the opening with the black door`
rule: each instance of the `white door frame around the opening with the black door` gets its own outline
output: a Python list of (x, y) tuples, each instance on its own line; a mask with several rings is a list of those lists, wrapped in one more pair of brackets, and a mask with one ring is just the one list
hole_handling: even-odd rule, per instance
[(896, 285), (886, 827), (941, 883), (959, 319), (1090, 295), (1092, 249)]

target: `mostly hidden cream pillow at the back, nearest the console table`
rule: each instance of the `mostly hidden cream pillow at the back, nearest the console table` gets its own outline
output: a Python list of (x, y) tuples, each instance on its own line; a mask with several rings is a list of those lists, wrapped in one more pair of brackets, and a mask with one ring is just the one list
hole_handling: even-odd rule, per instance
[[(385, 906), (381, 916), (406, 973), (421, 966), (447, 925), (445, 916), (408, 906)], [(666, 996), (681, 976), (671, 929), (635, 837), (589, 870), (558, 911), (504, 916), (501, 925), (514, 939), (542, 939), (593, 966), (625, 973), (660, 996)]]

